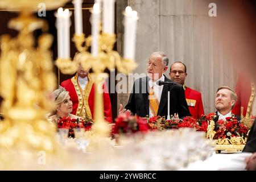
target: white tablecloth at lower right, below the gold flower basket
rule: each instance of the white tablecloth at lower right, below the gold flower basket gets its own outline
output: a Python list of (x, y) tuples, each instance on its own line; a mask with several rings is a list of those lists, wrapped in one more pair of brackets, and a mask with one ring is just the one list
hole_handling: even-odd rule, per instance
[(181, 168), (182, 171), (222, 171), (222, 170), (245, 170), (245, 158), (250, 156), (251, 153), (238, 153), (238, 154), (213, 154), (210, 158), (204, 161), (197, 161), (191, 163), (188, 167)]

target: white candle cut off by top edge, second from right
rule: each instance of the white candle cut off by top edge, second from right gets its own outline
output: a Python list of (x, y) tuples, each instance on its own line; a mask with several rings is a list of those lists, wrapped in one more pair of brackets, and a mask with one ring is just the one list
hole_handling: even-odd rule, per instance
[(103, 32), (114, 34), (114, 5), (115, 0), (103, 2)]

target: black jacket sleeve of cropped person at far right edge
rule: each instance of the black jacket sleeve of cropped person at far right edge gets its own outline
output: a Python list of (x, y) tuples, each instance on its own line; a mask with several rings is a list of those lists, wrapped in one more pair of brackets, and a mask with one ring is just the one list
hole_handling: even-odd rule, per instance
[[(255, 120), (256, 121), (256, 120)], [(255, 121), (253, 126), (251, 126), (251, 130), (249, 132), (245, 148), (243, 148), (243, 152), (256, 152), (256, 125)]]

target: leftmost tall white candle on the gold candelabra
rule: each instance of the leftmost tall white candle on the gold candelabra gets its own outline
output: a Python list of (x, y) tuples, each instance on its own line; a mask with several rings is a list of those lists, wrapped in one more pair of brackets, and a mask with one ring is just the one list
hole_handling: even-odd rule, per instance
[(62, 14), (63, 14), (63, 9), (62, 7), (60, 7), (57, 11), (57, 13), (55, 14), (57, 20), (56, 20), (56, 28), (57, 28), (57, 49), (58, 49), (58, 57), (59, 58), (63, 58), (63, 18), (62, 18)]

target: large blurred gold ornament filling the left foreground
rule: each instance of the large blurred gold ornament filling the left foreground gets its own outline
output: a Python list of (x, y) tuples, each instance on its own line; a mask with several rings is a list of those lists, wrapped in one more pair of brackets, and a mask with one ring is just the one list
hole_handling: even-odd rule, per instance
[[(45, 164), (66, 162), (65, 152), (54, 139), (56, 129), (46, 119), (54, 108), (51, 93), (56, 88), (50, 51), (53, 37), (46, 32), (47, 23), (32, 15), (39, 3), (52, 10), (66, 2), (0, 1), (3, 9), (19, 10), (18, 18), (9, 22), (18, 36), (0, 38), (1, 113), (5, 113), (5, 120), (0, 123), (0, 169), (47, 169)], [(40, 28), (44, 33), (35, 47), (33, 31)]]

